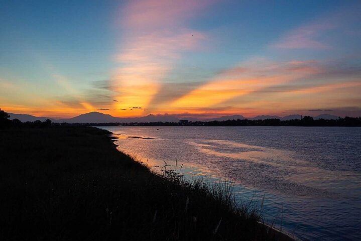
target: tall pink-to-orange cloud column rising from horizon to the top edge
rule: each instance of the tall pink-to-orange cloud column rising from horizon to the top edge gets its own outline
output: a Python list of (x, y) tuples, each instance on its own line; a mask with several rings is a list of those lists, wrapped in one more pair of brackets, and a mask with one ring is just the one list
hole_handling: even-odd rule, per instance
[(127, 38), (115, 57), (121, 67), (112, 77), (112, 90), (119, 93), (114, 97), (122, 99), (115, 103), (117, 108), (147, 107), (183, 52), (201, 47), (206, 35), (187, 28), (186, 22), (208, 4), (147, 0), (133, 1), (125, 8), (119, 23)]

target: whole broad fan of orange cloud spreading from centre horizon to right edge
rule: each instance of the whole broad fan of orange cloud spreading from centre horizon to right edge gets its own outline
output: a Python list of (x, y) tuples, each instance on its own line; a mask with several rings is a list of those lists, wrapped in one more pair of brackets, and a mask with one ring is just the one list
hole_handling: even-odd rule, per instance
[[(251, 116), (270, 113), (270, 109), (280, 113), (295, 106), (333, 109), (337, 104), (331, 101), (332, 94), (337, 93), (340, 107), (349, 102), (347, 98), (355, 98), (361, 91), (358, 68), (351, 66), (332, 61), (251, 58), (219, 71), (208, 82), (160, 105), (159, 112), (242, 113)], [(361, 103), (355, 100), (354, 104)]]

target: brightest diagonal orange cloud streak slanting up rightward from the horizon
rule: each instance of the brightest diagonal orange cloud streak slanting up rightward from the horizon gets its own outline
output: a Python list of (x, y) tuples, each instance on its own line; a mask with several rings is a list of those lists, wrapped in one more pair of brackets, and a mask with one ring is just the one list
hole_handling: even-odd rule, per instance
[(234, 97), (246, 95), (265, 87), (288, 83), (311, 74), (319, 68), (310, 66), (312, 62), (274, 62), (267, 59), (251, 59), (240, 66), (223, 71), (214, 80), (180, 97), (171, 108), (204, 108), (223, 103)]

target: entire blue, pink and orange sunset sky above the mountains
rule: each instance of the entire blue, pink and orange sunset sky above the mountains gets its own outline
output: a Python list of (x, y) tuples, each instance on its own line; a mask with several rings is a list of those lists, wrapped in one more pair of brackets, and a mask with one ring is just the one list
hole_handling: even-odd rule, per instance
[(360, 1), (5, 1), (0, 108), (361, 116)]

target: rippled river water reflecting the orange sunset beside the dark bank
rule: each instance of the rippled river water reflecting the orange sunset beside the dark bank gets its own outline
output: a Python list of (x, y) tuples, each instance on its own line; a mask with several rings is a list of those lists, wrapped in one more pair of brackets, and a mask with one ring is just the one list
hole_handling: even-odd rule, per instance
[(240, 201), (264, 198), (268, 223), (301, 240), (361, 238), (361, 128), (101, 128), (150, 166), (233, 179)]

